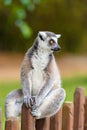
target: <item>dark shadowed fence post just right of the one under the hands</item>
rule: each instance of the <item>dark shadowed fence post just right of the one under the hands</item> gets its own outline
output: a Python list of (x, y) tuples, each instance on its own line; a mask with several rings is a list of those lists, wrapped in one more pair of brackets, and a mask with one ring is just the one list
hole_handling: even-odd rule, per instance
[(36, 120), (36, 130), (50, 130), (50, 118)]

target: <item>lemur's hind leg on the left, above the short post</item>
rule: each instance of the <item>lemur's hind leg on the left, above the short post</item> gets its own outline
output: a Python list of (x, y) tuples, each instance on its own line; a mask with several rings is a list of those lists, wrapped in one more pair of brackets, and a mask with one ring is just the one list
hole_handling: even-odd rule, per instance
[(17, 117), (21, 113), (23, 93), (21, 89), (14, 90), (8, 94), (5, 103), (5, 116)]

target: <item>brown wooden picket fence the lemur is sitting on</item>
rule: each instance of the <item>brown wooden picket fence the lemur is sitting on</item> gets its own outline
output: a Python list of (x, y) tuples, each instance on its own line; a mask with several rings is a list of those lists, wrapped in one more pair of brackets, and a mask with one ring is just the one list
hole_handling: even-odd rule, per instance
[[(0, 130), (2, 130), (0, 109)], [(65, 102), (60, 111), (51, 118), (35, 120), (23, 105), (21, 128), (19, 120), (11, 118), (5, 122), (5, 130), (87, 130), (87, 97), (84, 88), (77, 88), (73, 102)]]

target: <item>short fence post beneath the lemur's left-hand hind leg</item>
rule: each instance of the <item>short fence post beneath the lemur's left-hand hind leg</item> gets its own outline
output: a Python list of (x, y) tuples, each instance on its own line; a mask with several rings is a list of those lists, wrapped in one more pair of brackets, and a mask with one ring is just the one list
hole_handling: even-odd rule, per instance
[(5, 122), (5, 130), (19, 130), (18, 118), (9, 118)]

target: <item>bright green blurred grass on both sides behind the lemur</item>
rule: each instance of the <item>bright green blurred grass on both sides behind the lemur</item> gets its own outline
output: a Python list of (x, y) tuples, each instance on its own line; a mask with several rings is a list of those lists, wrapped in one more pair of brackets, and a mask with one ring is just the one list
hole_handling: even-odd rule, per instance
[[(19, 81), (9, 81), (0, 83), (0, 107), (3, 111), (3, 122), (4, 118), (4, 104), (6, 95), (14, 90), (20, 88)], [(72, 78), (64, 78), (62, 80), (62, 86), (66, 90), (66, 101), (73, 101), (73, 94), (76, 87), (84, 87), (87, 94), (87, 76), (76, 76)], [(4, 127), (4, 125), (3, 125)]]

